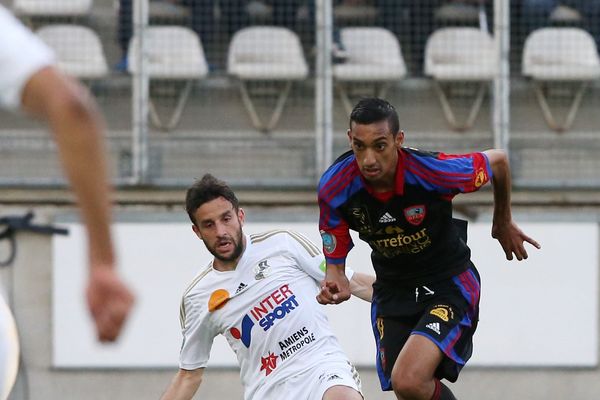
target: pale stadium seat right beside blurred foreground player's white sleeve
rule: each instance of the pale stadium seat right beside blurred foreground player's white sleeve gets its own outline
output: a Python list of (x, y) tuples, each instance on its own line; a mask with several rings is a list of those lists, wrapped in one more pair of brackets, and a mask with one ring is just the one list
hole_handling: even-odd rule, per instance
[(96, 32), (79, 25), (48, 25), (36, 34), (56, 52), (58, 66), (79, 79), (101, 79), (108, 65)]

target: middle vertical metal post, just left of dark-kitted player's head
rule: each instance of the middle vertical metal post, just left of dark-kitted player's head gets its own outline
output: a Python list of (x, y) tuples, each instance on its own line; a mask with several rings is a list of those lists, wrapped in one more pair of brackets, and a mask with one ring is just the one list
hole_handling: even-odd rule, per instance
[(331, 49), (333, 8), (331, 0), (316, 0), (317, 65), (315, 71), (316, 174), (331, 164), (333, 152), (333, 78)]

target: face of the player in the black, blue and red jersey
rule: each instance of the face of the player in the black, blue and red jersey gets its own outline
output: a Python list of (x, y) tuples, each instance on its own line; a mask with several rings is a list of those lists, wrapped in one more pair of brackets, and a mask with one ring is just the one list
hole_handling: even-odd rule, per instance
[(392, 135), (386, 120), (367, 125), (353, 123), (348, 139), (365, 180), (375, 189), (392, 190), (404, 132)]

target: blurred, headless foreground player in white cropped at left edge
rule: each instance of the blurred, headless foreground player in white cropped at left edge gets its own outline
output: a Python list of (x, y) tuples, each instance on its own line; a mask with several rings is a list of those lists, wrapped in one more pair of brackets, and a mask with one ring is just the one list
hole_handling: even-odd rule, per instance
[[(0, 106), (45, 121), (87, 228), (87, 302), (101, 341), (119, 335), (133, 303), (115, 267), (110, 234), (104, 126), (82, 85), (54, 66), (52, 51), (0, 5)], [(0, 302), (3, 300), (0, 298)], [(0, 399), (14, 382), (18, 342), (6, 304), (0, 304)]]

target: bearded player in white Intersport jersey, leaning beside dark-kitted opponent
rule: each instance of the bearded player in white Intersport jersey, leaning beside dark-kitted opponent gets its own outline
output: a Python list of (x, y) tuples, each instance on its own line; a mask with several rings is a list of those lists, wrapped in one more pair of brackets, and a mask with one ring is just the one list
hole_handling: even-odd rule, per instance
[[(319, 248), (287, 230), (244, 234), (235, 194), (209, 174), (188, 189), (186, 210), (214, 259), (183, 295), (180, 369), (162, 400), (194, 396), (219, 334), (237, 356), (246, 400), (361, 400), (358, 373), (315, 298), (325, 277)], [(374, 278), (348, 278), (370, 301)]]

